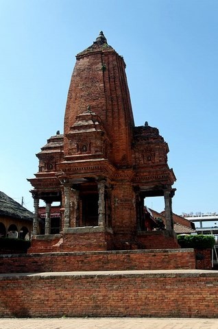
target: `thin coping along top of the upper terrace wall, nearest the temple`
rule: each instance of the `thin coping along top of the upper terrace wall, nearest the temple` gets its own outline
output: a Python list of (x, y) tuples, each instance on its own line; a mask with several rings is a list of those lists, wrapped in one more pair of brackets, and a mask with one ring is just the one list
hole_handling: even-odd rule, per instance
[(174, 254), (191, 252), (193, 248), (181, 248), (181, 249), (138, 249), (138, 250), (107, 250), (96, 252), (41, 252), (36, 254), (1, 254), (0, 258), (16, 258), (16, 257), (49, 257), (49, 256), (89, 256), (89, 255), (120, 255), (120, 254)]

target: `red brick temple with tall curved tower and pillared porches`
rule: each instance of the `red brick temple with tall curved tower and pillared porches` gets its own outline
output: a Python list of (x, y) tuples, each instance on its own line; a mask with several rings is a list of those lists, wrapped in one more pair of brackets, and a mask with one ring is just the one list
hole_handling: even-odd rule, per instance
[[(168, 152), (156, 127), (134, 125), (125, 62), (100, 32), (76, 56), (64, 134), (36, 155), (30, 252), (177, 248)], [(147, 197), (164, 198), (166, 230), (146, 226)]]

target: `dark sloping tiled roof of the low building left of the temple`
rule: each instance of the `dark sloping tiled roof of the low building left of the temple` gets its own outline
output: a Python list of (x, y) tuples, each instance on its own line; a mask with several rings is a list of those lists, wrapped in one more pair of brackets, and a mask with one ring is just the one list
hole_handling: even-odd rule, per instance
[(34, 214), (0, 191), (0, 216), (33, 221)]

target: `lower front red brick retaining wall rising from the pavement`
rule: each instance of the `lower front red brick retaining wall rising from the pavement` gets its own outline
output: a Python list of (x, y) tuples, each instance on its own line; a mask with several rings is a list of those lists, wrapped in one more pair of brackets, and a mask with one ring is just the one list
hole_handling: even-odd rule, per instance
[(218, 317), (218, 272), (0, 277), (1, 317)]

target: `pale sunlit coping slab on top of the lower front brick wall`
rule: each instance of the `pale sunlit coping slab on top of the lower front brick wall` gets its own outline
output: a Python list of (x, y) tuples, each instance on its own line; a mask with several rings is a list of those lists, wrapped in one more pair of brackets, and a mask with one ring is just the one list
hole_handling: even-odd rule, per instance
[(131, 270), (131, 271), (66, 271), (66, 272), (40, 272), (40, 273), (3, 273), (0, 274), (0, 280), (19, 279), (19, 278), (217, 278), (218, 271), (202, 269), (168, 269), (168, 270)]

